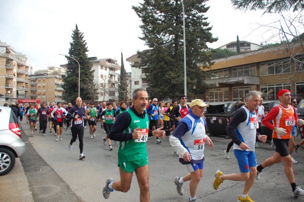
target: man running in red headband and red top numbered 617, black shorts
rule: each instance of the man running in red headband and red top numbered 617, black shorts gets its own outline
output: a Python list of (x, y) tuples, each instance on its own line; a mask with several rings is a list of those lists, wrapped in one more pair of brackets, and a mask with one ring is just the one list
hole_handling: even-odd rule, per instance
[[(291, 138), (292, 126), (303, 125), (304, 120), (298, 119), (294, 107), (289, 105), (291, 102), (291, 93), (289, 90), (280, 90), (278, 92), (278, 98), (280, 99), (280, 105), (274, 107), (262, 120), (264, 126), (273, 130), (273, 143), (276, 146), (276, 151), (272, 157), (264, 160), (264, 162), (257, 166), (256, 179), (259, 179), (259, 174), (265, 167), (283, 160), (285, 175), (291, 185), (294, 196), (303, 196), (304, 190), (295, 184), (292, 170), (293, 162), (288, 151), (288, 142)], [(273, 124), (270, 121), (273, 121)]]

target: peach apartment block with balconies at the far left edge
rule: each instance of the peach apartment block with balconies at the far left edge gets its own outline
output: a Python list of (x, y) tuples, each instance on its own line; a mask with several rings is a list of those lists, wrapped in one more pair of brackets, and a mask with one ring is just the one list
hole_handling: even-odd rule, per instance
[(28, 99), (29, 64), (26, 55), (0, 41), (0, 105)]

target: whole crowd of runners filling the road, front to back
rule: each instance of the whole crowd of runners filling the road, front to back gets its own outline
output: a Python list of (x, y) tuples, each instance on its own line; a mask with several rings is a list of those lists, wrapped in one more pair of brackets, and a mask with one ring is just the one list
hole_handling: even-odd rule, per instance
[[(232, 115), (227, 134), (232, 142), (224, 151), (224, 157), (230, 158), (230, 148), (233, 147), (240, 173), (223, 174), (217, 170), (212, 182), (214, 189), (226, 180), (244, 181), (244, 189), (238, 201), (253, 201), (248, 193), (253, 183), (260, 179), (265, 167), (284, 161), (284, 171), (291, 185), (294, 196), (303, 196), (304, 190), (296, 185), (293, 176), (292, 164), (297, 163), (292, 158), (292, 152), (304, 144), (296, 143), (294, 136), (297, 126), (302, 126), (304, 120), (297, 117), (296, 99), (291, 98), (287, 89), (278, 92), (280, 105), (270, 112), (265, 112), (262, 106), (263, 98), (259, 91), (250, 91), (246, 101), (238, 105), (238, 110)], [(209, 107), (201, 99), (194, 99), (188, 105), (186, 95), (181, 95), (179, 100), (171, 103), (159, 102), (157, 98), (148, 99), (144, 89), (136, 89), (132, 94), (132, 102), (100, 102), (83, 103), (81, 97), (71, 103), (52, 102), (47, 106), (42, 103), (29, 103), (26, 106), (11, 106), (20, 123), (29, 123), (31, 134), (37, 130), (46, 136), (47, 127), (50, 133), (56, 136), (55, 141), (62, 140), (62, 131), (70, 130), (71, 140), (68, 149), (77, 138), (79, 139), (80, 156), (83, 154), (84, 129), (90, 132), (90, 138), (96, 137), (97, 125), (104, 131), (103, 144), (113, 150), (111, 140), (119, 142), (118, 166), (120, 179), (106, 180), (102, 190), (104, 198), (108, 198), (114, 190), (127, 192), (131, 187), (133, 173), (136, 173), (140, 188), (140, 201), (150, 201), (148, 182), (148, 159), (145, 143), (150, 137), (156, 137), (156, 144), (161, 144), (161, 139), (167, 136), (172, 146), (174, 156), (186, 166), (188, 173), (183, 177), (175, 177), (173, 182), (179, 195), (183, 195), (183, 184), (189, 181), (189, 199), (196, 202), (196, 191), (203, 177), (205, 142), (210, 148), (212, 140), (206, 134), (206, 121), (204, 111)], [(37, 122), (39, 128), (37, 129)], [(99, 124), (98, 124), (99, 123)], [(275, 148), (274, 156), (266, 159), (260, 165), (256, 164), (255, 148), (258, 141), (265, 142), (267, 136), (263, 134), (262, 125), (273, 130), (272, 147)], [(98, 132), (98, 134), (102, 132)], [(267, 171), (265, 171), (267, 172)]]

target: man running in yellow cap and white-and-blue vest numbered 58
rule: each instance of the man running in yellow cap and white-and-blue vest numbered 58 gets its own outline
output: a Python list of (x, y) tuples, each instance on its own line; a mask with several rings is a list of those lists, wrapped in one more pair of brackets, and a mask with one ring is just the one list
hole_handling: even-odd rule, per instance
[(186, 165), (189, 173), (184, 177), (175, 177), (174, 183), (179, 195), (183, 195), (182, 185), (189, 182), (189, 202), (197, 202), (196, 191), (203, 177), (205, 141), (209, 148), (213, 147), (211, 139), (206, 135), (204, 118), (206, 105), (203, 100), (195, 99), (190, 104), (191, 113), (185, 116), (170, 136), (170, 144), (179, 153), (179, 162)]

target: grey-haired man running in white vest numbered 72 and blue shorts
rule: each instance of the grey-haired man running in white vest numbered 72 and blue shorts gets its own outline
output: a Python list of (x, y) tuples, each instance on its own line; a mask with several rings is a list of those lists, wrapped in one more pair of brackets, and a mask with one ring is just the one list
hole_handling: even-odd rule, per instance
[(253, 201), (248, 193), (254, 183), (256, 176), (255, 139), (265, 142), (267, 136), (257, 132), (258, 120), (255, 113), (259, 104), (261, 92), (250, 91), (246, 95), (246, 106), (241, 107), (231, 119), (227, 126), (227, 134), (232, 138), (234, 154), (239, 164), (241, 173), (224, 175), (220, 171), (215, 172), (212, 186), (218, 189), (224, 180), (245, 181), (242, 194), (238, 197), (240, 202)]

